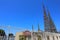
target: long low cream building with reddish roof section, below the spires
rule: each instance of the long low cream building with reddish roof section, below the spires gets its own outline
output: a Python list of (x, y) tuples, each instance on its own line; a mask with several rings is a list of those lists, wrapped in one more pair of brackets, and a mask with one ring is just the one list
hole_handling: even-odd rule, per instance
[(15, 40), (60, 40), (59, 33), (51, 32), (17, 32)]

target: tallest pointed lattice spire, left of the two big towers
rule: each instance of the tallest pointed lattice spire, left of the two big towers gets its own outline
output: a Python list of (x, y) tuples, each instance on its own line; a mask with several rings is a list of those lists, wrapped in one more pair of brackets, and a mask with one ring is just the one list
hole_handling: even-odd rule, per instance
[(44, 29), (45, 31), (50, 31), (50, 27), (49, 27), (49, 20), (48, 20), (48, 16), (46, 14), (46, 9), (45, 6), (43, 4), (43, 12), (44, 12)]

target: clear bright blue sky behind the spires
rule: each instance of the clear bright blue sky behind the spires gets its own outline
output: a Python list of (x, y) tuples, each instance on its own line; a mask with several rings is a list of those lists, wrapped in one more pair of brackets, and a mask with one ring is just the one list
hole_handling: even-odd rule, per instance
[[(52, 20), (59, 31), (60, 0), (44, 0), (44, 4), (49, 8)], [(12, 33), (16, 32), (13, 30), (14, 26), (31, 30), (33, 24), (34, 30), (37, 30), (38, 23), (40, 29), (44, 30), (42, 0), (0, 0), (0, 25), (10, 25)], [(6, 28), (4, 30), (8, 32)]]

